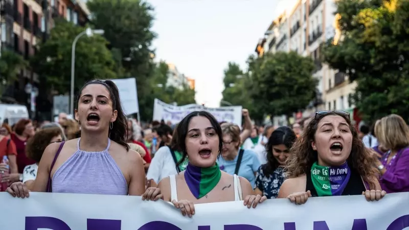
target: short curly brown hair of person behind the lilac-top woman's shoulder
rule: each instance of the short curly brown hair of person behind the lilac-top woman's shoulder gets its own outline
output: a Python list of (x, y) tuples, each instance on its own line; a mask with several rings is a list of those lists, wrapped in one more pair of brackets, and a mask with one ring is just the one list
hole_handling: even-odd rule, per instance
[(61, 129), (59, 127), (41, 129), (36, 132), (33, 137), (31, 137), (26, 146), (26, 155), (28, 158), (35, 160), (39, 163), (41, 160), (42, 153), (50, 144), (53, 137), (62, 135)]

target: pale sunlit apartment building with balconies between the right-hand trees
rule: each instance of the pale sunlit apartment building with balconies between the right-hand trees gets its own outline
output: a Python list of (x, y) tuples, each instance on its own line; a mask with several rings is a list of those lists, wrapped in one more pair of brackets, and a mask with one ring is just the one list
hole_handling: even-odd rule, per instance
[(302, 117), (310, 117), (316, 110), (325, 109), (353, 112), (349, 97), (355, 83), (350, 83), (345, 73), (322, 63), (321, 44), (339, 33), (335, 11), (335, 0), (299, 0), (272, 21), (257, 44), (259, 56), (265, 52), (295, 51), (314, 60), (313, 76), (319, 80), (319, 97), (303, 111)]

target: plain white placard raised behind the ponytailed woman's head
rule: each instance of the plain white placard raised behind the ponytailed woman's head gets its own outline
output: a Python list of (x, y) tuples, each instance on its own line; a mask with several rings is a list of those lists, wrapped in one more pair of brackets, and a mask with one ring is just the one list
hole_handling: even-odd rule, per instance
[(126, 115), (139, 112), (137, 81), (135, 78), (111, 79), (119, 90), (122, 109)]

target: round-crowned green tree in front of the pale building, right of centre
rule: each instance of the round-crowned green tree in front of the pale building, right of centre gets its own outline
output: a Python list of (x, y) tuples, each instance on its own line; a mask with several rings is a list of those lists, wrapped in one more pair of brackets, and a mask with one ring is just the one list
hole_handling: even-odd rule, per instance
[(304, 109), (313, 100), (317, 79), (310, 57), (296, 52), (278, 52), (248, 60), (251, 97), (259, 112), (271, 116), (286, 115)]

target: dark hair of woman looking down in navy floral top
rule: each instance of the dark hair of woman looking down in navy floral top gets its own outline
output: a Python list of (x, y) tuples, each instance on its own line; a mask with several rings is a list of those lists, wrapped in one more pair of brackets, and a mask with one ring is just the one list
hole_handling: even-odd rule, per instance
[(267, 152), (267, 163), (261, 166), (266, 176), (271, 175), (274, 173), (274, 170), (281, 166), (276, 157), (272, 154), (274, 146), (285, 145), (285, 147), (291, 149), (296, 139), (296, 133), (287, 126), (281, 126), (271, 133), (265, 148)]

